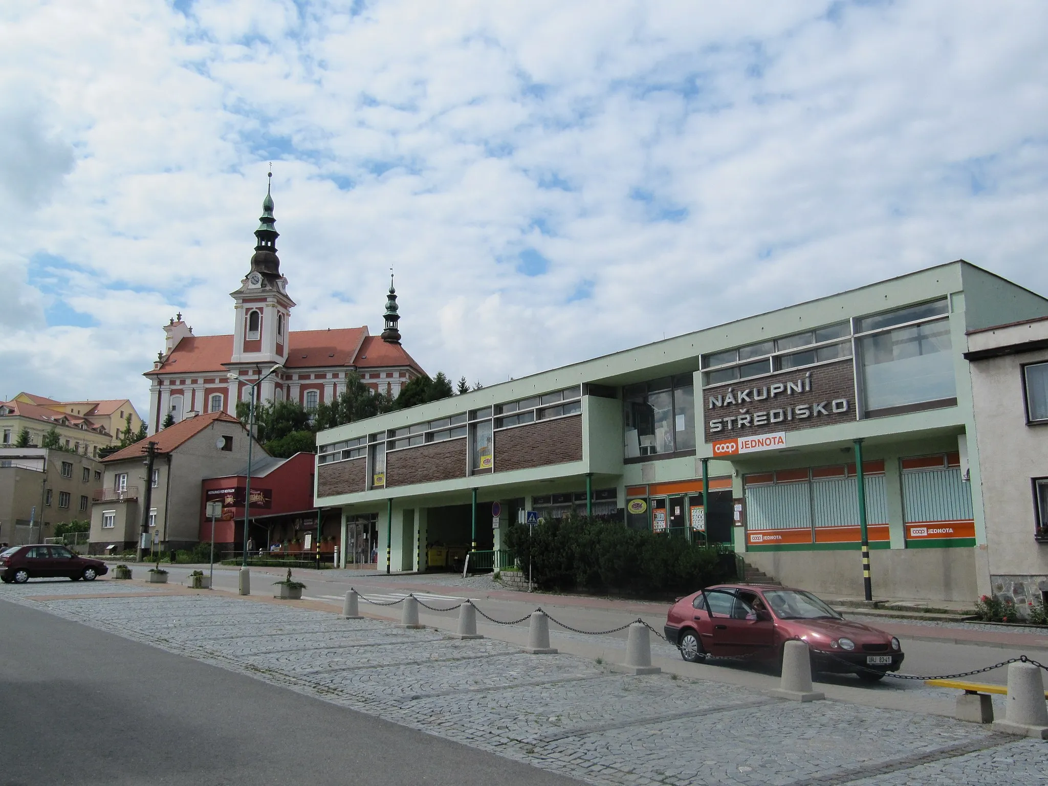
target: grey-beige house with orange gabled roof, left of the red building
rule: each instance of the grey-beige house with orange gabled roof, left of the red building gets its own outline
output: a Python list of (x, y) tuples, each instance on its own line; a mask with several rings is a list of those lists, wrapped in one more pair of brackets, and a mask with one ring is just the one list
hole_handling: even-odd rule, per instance
[[(200, 481), (227, 475), (247, 461), (246, 429), (232, 415), (211, 412), (188, 418), (102, 460), (102, 487), (91, 505), (88, 552), (121, 552), (139, 541), (149, 487), (148, 528), (162, 551), (191, 548), (200, 527)], [(153, 474), (147, 477), (149, 442)], [(264, 456), (257, 441), (253, 451)]]

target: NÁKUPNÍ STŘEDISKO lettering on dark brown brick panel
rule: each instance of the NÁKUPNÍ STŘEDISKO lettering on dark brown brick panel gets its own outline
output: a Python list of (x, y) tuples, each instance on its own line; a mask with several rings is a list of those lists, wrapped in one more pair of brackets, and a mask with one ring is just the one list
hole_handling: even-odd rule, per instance
[(855, 420), (851, 358), (702, 391), (705, 441)]

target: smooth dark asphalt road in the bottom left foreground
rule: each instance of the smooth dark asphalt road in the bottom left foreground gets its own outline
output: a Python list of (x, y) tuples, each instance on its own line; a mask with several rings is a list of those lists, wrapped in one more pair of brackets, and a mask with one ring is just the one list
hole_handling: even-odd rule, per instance
[(0, 786), (567, 778), (0, 602)]

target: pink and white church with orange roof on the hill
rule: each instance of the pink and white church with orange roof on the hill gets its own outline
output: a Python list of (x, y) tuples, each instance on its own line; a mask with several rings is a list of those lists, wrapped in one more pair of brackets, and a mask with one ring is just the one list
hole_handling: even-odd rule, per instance
[[(270, 183), (272, 173), (269, 173)], [(272, 369), (258, 385), (257, 401), (292, 400), (307, 410), (334, 400), (356, 373), (376, 392), (396, 396), (425, 372), (400, 346), (400, 316), (390, 278), (381, 335), (368, 327), (291, 330), (294, 301), (280, 271), (271, 187), (266, 189), (252, 267), (234, 301), (233, 333), (194, 335), (182, 314), (163, 326), (163, 351), (150, 379), (149, 433), (170, 414), (175, 422), (206, 412), (236, 415), (237, 401), (250, 396), (249, 383)], [(234, 379), (231, 375), (235, 375)]]

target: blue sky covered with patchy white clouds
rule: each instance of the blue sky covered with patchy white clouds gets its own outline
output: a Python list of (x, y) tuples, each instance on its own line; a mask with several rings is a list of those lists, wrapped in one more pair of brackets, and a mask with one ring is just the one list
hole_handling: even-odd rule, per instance
[(963, 258), (1048, 294), (1048, 3), (5, 0), (0, 397), (292, 329), (492, 385)]

